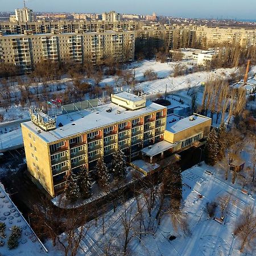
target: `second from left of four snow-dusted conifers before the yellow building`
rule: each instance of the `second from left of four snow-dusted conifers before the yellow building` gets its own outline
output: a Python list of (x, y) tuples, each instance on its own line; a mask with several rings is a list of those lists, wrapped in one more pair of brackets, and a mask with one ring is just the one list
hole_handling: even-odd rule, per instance
[(77, 175), (77, 184), (79, 185), (79, 191), (84, 198), (89, 198), (91, 195), (92, 185), (89, 177), (89, 172), (85, 166), (83, 166)]

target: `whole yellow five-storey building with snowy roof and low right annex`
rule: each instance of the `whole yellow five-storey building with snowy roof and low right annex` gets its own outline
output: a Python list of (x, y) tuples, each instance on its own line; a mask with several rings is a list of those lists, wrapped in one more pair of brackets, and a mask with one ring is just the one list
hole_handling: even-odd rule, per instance
[(33, 109), (22, 135), (28, 171), (54, 197), (63, 191), (68, 170), (93, 171), (99, 158), (111, 162), (118, 148), (127, 162), (141, 155), (152, 161), (206, 138), (210, 125), (210, 118), (196, 114), (167, 117), (165, 106), (121, 92), (107, 104), (94, 99), (63, 106), (63, 114), (54, 118)]

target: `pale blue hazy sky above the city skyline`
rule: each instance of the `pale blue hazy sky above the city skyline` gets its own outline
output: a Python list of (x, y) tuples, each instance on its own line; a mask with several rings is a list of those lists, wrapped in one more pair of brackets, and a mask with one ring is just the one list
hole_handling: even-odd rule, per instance
[[(0, 11), (13, 11), (23, 0), (0, 0)], [(256, 0), (27, 0), (35, 11), (66, 11), (184, 16), (191, 18), (256, 19)]]

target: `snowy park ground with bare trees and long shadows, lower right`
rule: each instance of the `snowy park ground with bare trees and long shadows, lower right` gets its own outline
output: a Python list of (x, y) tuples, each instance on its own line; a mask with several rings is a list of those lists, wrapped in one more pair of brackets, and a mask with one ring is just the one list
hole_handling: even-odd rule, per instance
[[(206, 172), (207, 170), (213, 175)], [(242, 193), (239, 185), (224, 181), (216, 168), (205, 164), (184, 171), (182, 178), (183, 212), (188, 217), (191, 236), (183, 236), (183, 233), (175, 232), (170, 217), (166, 214), (162, 217), (160, 225), (156, 225), (154, 235), (142, 236), (141, 243), (138, 237), (131, 239), (128, 246), (129, 255), (255, 255), (255, 247), (253, 251), (240, 253), (240, 241), (233, 236), (234, 226), (243, 209), (250, 205), (254, 211), (256, 210), (255, 198)], [(227, 197), (230, 200), (225, 209), (224, 221), (220, 224), (208, 217), (205, 206), (207, 202), (213, 200), (220, 205), (220, 202), (226, 200)], [(136, 214), (135, 199), (130, 200), (126, 207), (128, 212), (132, 209), (132, 214)], [(102, 234), (102, 220), (98, 220), (97, 226), (92, 221), (92, 227), (80, 244), (79, 255), (103, 255), (108, 246), (112, 248), (113, 255), (119, 255), (115, 253), (115, 249), (123, 244), (122, 217), (124, 214), (125, 207), (123, 206), (119, 207), (115, 213), (112, 211), (106, 213), (104, 235)], [(221, 217), (219, 206), (215, 217)], [(135, 229), (138, 227), (133, 226), (133, 232)], [(176, 236), (176, 239), (170, 241), (168, 238), (171, 235)], [(59, 251), (55, 251), (54, 254), (61, 255)]]

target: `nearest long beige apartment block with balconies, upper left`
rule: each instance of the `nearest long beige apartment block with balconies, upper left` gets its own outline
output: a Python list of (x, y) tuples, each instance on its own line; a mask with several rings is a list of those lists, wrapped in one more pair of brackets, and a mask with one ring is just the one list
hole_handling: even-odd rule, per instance
[(86, 57), (101, 64), (112, 56), (117, 61), (133, 61), (134, 44), (133, 31), (3, 35), (0, 61), (18, 65), (22, 71), (30, 71), (35, 63), (47, 59), (82, 63)]

